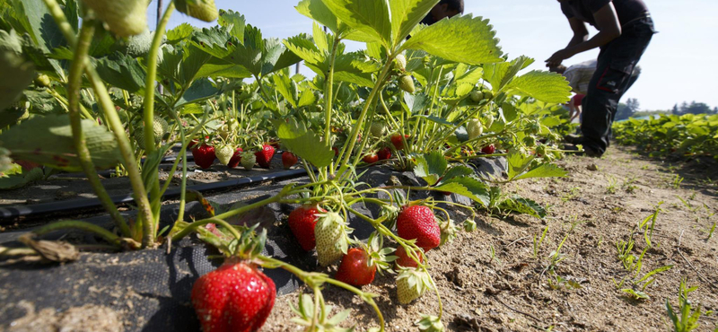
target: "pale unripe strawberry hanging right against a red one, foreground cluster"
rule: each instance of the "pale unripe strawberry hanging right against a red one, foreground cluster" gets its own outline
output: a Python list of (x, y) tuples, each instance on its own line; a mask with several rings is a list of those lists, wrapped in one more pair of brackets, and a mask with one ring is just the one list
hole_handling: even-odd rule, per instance
[(317, 242), (317, 259), (320, 266), (330, 264), (342, 258), (349, 249), (348, 228), (340, 214), (328, 212), (317, 214), (319, 219), (314, 226), (314, 238)]

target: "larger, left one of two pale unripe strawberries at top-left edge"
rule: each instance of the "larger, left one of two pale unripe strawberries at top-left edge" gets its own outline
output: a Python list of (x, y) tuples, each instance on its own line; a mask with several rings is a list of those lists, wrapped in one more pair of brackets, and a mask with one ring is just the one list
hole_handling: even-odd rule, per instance
[(83, 0), (109, 31), (120, 37), (138, 35), (147, 29), (147, 0)]

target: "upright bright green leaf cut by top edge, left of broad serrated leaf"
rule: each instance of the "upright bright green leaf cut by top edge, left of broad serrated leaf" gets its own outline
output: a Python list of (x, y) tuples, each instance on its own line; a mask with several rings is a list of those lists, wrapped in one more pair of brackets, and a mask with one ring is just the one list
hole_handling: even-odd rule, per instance
[(421, 22), (439, 0), (392, 0), (391, 38), (398, 41), (406, 39), (408, 34)]

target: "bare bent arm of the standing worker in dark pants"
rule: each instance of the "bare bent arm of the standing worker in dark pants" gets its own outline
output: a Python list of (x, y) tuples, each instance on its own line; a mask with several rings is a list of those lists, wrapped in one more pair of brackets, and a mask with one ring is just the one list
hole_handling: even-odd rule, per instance
[[(609, 4), (601, 7), (598, 12), (593, 13), (593, 18), (596, 20), (596, 25), (600, 29), (599, 33), (593, 36), (593, 38), (578, 42), (575, 45), (569, 43), (567, 48), (557, 51), (546, 60), (547, 66), (558, 66), (567, 58), (574, 57), (576, 54), (593, 48), (600, 48), (621, 35), (621, 23), (618, 21), (616, 7), (613, 6), (613, 2), (609, 2)], [(576, 19), (574, 18), (573, 20)], [(571, 19), (569, 19), (569, 22), (571, 22)], [(573, 22), (571, 26), (572, 29), (574, 29)], [(583, 29), (585, 30), (585, 26)], [(574, 39), (571, 40), (572, 43), (577, 40), (576, 32), (577, 31), (574, 30)]]

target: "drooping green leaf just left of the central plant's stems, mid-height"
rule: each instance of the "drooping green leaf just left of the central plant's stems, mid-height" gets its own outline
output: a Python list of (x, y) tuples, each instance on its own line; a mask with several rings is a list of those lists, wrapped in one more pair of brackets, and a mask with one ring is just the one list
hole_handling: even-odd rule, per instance
[(290, 118), (288, 122), (274, 120), (272, 123), (275, 126), (276, 135), (289, 151), (315, 167), (328, 166), (334, 159), (334, 151), (331, 147), (326, 142), (322, 142), (319, 135), (309, 131), (302, 123), (297, 123), (293, 118)]

